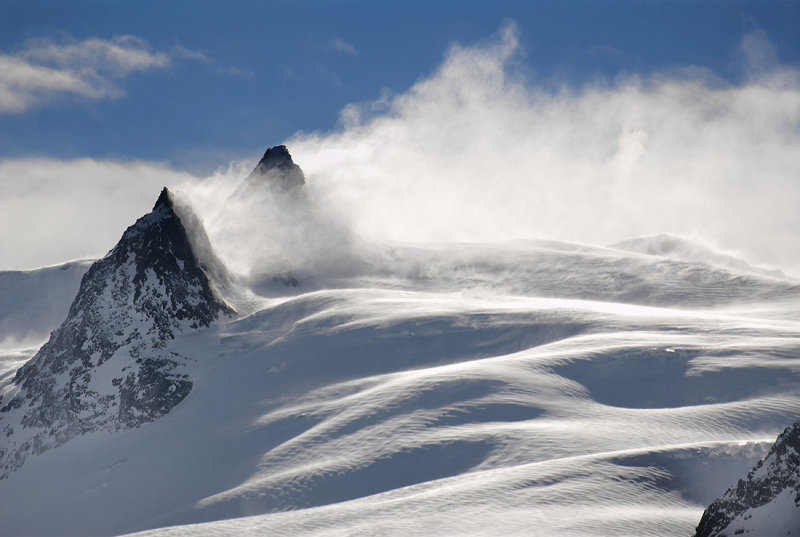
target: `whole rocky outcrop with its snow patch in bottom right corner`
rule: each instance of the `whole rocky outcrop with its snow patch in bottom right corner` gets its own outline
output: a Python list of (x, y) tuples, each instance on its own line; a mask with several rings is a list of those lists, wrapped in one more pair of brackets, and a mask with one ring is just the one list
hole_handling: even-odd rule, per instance
[(711, 503), (695, 535), (800, 535), (800, 421), (778, 436), (746, 477)]

